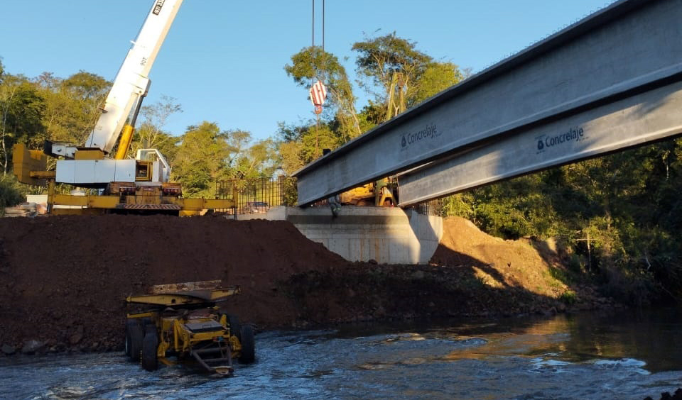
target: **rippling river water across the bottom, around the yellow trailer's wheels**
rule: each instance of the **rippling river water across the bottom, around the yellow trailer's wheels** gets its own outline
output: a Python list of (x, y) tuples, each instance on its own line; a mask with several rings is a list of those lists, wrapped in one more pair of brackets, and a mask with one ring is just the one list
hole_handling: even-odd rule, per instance
[(256, 335), (220, 378), (122, 352), (0, 358), (0, 399), (638, 399), (682, 387), (682, 310)]

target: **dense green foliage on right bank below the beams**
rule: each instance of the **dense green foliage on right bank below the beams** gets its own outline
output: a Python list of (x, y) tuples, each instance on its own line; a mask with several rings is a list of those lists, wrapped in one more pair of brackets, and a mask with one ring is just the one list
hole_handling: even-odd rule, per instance
[(558, 240), (576, 276), (646, 303), (682, 298), (682, 140), (511, 179), (440, 203), (502, 238)]

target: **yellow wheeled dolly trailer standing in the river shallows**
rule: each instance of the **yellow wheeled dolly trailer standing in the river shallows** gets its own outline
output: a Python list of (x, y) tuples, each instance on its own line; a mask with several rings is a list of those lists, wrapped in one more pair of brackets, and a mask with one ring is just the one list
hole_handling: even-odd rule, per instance
[(136, 310), (127, 313), (126, 355), (148, 371), (156, 370), (158, 362), (173, 364), (171, 357), (192, 358), (222, 376), (233, 374), (234, 360), (254, 362), (254, 329), (216, 306), (241, 289), (220, 283), (163, 284), (129, 296), (126, 303)]

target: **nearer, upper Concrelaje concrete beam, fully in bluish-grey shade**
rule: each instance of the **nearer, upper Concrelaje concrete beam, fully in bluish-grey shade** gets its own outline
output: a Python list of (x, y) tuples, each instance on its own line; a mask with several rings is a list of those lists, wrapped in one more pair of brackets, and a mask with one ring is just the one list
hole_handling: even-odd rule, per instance
[(472, 151), (485, 154), (480, 149), (511, 143), (507, 138), (524, 132), (540, 134), (536, 129), (542, 126), (546, 135), (590, 127), (590, 140), (605, 145), (597, 138), (601, 130), (579, 116), (592, 115), (593, 109), (605, 112), (609, 104), (625, 106), (629, 103), (622, 101), (630, 97), (646, 109), (647, 101), (655, 100), (639, 95), (681, 81), (679, 21), (682, 0), (617, 1), (299, 170), (294, 174), (298, 203), (428, 162)]

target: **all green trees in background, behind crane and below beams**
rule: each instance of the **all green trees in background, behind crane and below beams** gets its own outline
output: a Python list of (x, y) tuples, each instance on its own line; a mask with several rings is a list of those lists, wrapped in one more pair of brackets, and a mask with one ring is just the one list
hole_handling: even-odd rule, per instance
[[(166, 121), (182, 107), (164, 96), (143, 107), (130, 155), (158, 148), (187, 196), (210, 197), (216, 181), (291, 174), (324, 148), (347, 143), (469, 74), (396, 33), (365, 37), (351, 50), (357, 82), (338, 57), (317, 47), (303, 48), (283, 66), (300, 87), (307, 89), (315, 79), (325, 83), (328, 103), (319, 120), (282, 121), (264, 140), (208, 121), (173, 135)], [(4, 72), (0, 63), (1, 204), (39, 190), (11, 177), (12, 145), (40, 148), (45, 139), (83, 143), (110, 86), (90, 72), (28, 78)], [(355, 90), (369, 96), (362, 109), (356, 108)], [(682, 140), (666, 140), (448, 196), (438, 202), (438, 213), (469, 218), (502, 238), (556, 240), (570, 267), (565, 279), (600, 279), (612, 294), (630, 301), (661, 294), (680, 299), (681, 174)]]

